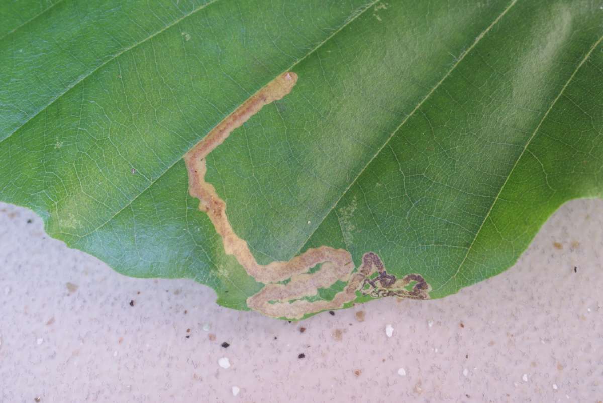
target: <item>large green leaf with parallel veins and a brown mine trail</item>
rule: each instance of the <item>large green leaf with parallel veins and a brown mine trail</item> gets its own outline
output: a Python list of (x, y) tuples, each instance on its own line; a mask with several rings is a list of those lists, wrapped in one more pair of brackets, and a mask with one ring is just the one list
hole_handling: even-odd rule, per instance
[(603, 194), (594, 1), (23, 0), (0, 19), (0, 198), (227, 307), (440, 298)]

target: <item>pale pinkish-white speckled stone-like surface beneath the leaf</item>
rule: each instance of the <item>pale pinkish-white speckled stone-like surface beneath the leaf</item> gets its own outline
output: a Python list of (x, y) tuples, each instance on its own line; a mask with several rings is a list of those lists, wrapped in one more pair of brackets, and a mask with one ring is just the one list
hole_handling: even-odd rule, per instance
[(191, 280), (119, 275), (0, 204), (0, 402), (594, 403), (602, 245), (603, 201), (574, 201), (457, 295), (287, 323)]

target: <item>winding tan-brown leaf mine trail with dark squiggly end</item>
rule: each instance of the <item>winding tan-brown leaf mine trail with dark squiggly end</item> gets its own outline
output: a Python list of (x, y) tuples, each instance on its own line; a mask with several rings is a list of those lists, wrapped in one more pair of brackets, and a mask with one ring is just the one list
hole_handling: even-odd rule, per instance
[[(406, 275), (405, 278), (396, 280), (395, 276), (385, 271), (380, 258), (373, 252), (364, 255), (356, 272), (350, 252), (328, 246), (308, 249), (289, 261), (274, 261), (264, 266), (257, 263), (247, 242), (233, 231), (226, 216), (226, 202), (219, 198), (212, 184), (204, 179), (205, 157), (262, 107), (282, 99), (291, 92), (295, 83), (297, 74), (283, 73), (227, 116), (185, 155), (189, 192), (200, 200), (199, 209), (209, 216), (216, 232), (222, 238), (224, 251), (227, 255), (234, 256), (256, 281), (265, 284), (264, 288), (247, 299), (248, 307), (267, 316), (300, 319), (305, 314), (343, 307), (346, 302), (356, 299), (357, 291), (366, 293), (363, 290), (365, 286), (370, 288), (369, 292), (373, 296), (429, 298), (428, 291), (431, 287), (420, 275)], [(308, 273), (317, 264), (322, 264), (320, 270)], [(371, 280), (370, 276), (375, 272), (378, 272), (378, 275)], [(287, 284), (278, 283), (287, 279), (291, 279)], [(318, 289), (329, 287), (337, 280), (345, 281), (347, 285), (344, 290), (336, 293), (332, 300), (311, 302), (303, 299), (316, 295)], [(377, 281), (381, 287), (377, 286)], [(414, 287), (407, 290), (405, 287), (411, 282), (415, 283)]]

